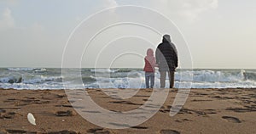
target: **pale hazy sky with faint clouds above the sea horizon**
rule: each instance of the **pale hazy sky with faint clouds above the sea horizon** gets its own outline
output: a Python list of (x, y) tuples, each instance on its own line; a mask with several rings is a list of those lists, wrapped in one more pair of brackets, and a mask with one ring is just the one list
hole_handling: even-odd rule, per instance
[[(148, 9), (111, 9), (96, 16), (103, 9), (125, 5)], [(172, 23), (158, 19), (162, 16), (153, 11)], [(254, 0), (2, 0), (0, 67), (60, 68), (63, 53), (70, 51), (68, 67), (79, 67), (72, 61), (80, 60), (82, 67), (143, 68), (148, 47), (161, 42), (161, 36), (147, 27), (115, 25), (96, 36), (89, 47), (85, 42), (98, 25), (110, 20), (140, 20), (170, 29), (160, 31), (172, 32), (168, 34), (176, 44), (180, 68), (256, 69), (255, 14)], [(84, 38), (77, 41), (73, 33), (79, 30), (84, 30)], [(75, 43), (81, 48), (74, 48)]]

